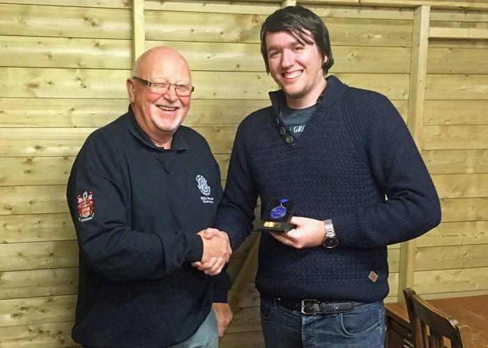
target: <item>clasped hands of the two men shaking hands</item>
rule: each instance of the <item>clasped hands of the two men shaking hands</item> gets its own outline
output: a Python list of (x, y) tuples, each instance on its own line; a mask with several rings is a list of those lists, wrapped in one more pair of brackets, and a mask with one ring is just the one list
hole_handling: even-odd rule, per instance
[(216, 228), (201, 230), (197, 235), (204, 242), (204, 255), (201, 256), (200, 262), (192, 263), (193, 267), (211, 276), (220, 274), (232, 253), (229, 236)]

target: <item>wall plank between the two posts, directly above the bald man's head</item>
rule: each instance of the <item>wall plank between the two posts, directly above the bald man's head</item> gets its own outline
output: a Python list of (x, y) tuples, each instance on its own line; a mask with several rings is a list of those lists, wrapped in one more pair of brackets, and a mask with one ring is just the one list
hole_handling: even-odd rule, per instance
[[(146, 39), (259, 43), (266, 15), (146, 11)], [(409, 20), (324, 18), (335, 46), (411, 47)], [(208, 22), (213, 26), (208, 26)], [(191, 25), (188, 26), (188, 23)]]

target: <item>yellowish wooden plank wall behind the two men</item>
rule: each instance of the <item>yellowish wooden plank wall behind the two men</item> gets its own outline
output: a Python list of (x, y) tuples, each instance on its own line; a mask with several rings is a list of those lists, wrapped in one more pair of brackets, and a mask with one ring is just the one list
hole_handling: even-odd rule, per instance
[[(77, 243), (65, 191), (94, 129), (128, 106), (131, 3), (0, 0), (0, 348), (75, 347)], [(280, 3), (146, 1), (146, 49), (174, 47), (196, 87), (185, 125), (203, 134), (222, 180), (238, 123), (269, 104), (259, 29)], [(315, 5), (330, 31), (331, 73), (387, 95), (406, 120), (413, 8)], [(484, 28), (487, 13), (432, 10), (432, 25)], [(418, 240), (415, 288), (443, 296), (487, 292), (486, 40), (429, 45), (422, 155), (443, 223)], [(234, 280), (257, 233), (235, 251)], [(399, 246), (389, 249), (387, 301), (397, 301)], [(221, 347), (262, 347), (259, 294), (241, 289)]]

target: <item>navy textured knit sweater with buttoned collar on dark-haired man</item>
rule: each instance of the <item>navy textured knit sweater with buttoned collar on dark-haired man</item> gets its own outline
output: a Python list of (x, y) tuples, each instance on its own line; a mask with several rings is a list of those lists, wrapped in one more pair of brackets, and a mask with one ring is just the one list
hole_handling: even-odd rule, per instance
[[(333, 249), (296, 249), (261, 235), (256, 286), (292, 299), (373, 302), (388, 294), (388, 244), (437, 226), (434, 184), (402, 117), (383, 95), (328, 77), (299, 139), (280, 134), (282, 91), (238, 127), (215, 227), (237, 248), (271, 198), (296, 200), (296, 216), (332, 219)], [(385, 197), (388, 197), (386, 200)], [(376, 281), (370, 272), (378, 275)]]

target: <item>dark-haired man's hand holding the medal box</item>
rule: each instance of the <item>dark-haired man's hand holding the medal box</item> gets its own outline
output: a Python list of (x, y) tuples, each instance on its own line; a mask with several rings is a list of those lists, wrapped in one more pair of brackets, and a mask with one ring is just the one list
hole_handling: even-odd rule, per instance
[(326, 228), (322, 220), (293, 216), (290, 223), (296, 225), (296, 228), (288, 233), (270, 232), (271, 235), (283, 244), (297, 249), (322, 245), (326, 237)]

